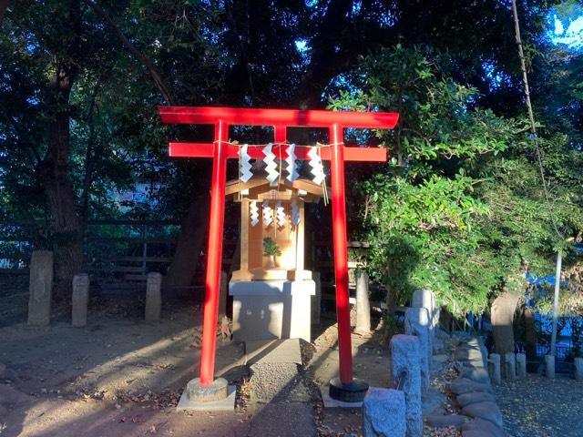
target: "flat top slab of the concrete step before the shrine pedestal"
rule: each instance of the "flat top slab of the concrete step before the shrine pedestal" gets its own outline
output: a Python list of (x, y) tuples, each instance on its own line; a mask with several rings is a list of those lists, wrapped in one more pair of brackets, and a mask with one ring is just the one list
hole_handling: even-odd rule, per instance
[(302, 364), (299, 339), (253, 340), (245, 342), (245, 363), (295, 363)]

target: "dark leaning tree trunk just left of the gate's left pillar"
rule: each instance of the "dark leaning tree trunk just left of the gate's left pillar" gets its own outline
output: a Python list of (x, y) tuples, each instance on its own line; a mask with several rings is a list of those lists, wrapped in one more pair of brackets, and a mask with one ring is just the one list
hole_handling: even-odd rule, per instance
[(165, 289), (186, 290), (199, 265), (209, 220), (209, 198), (201, 196), (190, 203), (189, 212), (180, 223), (179, 240), (164, 278)]

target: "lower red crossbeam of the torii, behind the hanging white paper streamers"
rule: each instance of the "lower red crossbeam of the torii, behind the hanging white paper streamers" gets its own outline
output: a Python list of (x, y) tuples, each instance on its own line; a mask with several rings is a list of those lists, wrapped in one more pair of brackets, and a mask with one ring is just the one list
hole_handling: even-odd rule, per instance
[[(227, 146), (227, 158), (239, 158), (237, 146)], [(307, 147), (296, 147), (295, 154), (298, 159), (308, 158)], [(273, 146), (273, 153), (279, 158), (287, 158), (286, 146)], [(322, 160), (330, 160), (331, 147), (322, 147), (320, 154)], [(247, 149), (251, 158), (263, 158), (262, 147)], [(169, 156), (173, 158), (212, 158), (212, 143), (170, 143)], [(345, 161), (384, 162), (387, 150), (383, 147), (344, 147)]]

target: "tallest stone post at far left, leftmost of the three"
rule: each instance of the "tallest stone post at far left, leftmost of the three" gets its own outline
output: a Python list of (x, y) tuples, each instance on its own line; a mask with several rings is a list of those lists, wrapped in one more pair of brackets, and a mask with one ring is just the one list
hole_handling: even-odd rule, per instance
[(53, 252), (34, 250), (30, 259), (28, 285), (28, 324), (46, 326), (51, 320)]

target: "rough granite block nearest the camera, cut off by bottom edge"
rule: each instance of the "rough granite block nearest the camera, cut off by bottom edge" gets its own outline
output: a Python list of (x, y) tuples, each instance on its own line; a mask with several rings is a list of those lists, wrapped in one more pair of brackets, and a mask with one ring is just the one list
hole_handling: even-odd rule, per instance
[(364, 437), (404, 437), (406, 435), (404, 392), (370, 389), (363, 401)]

